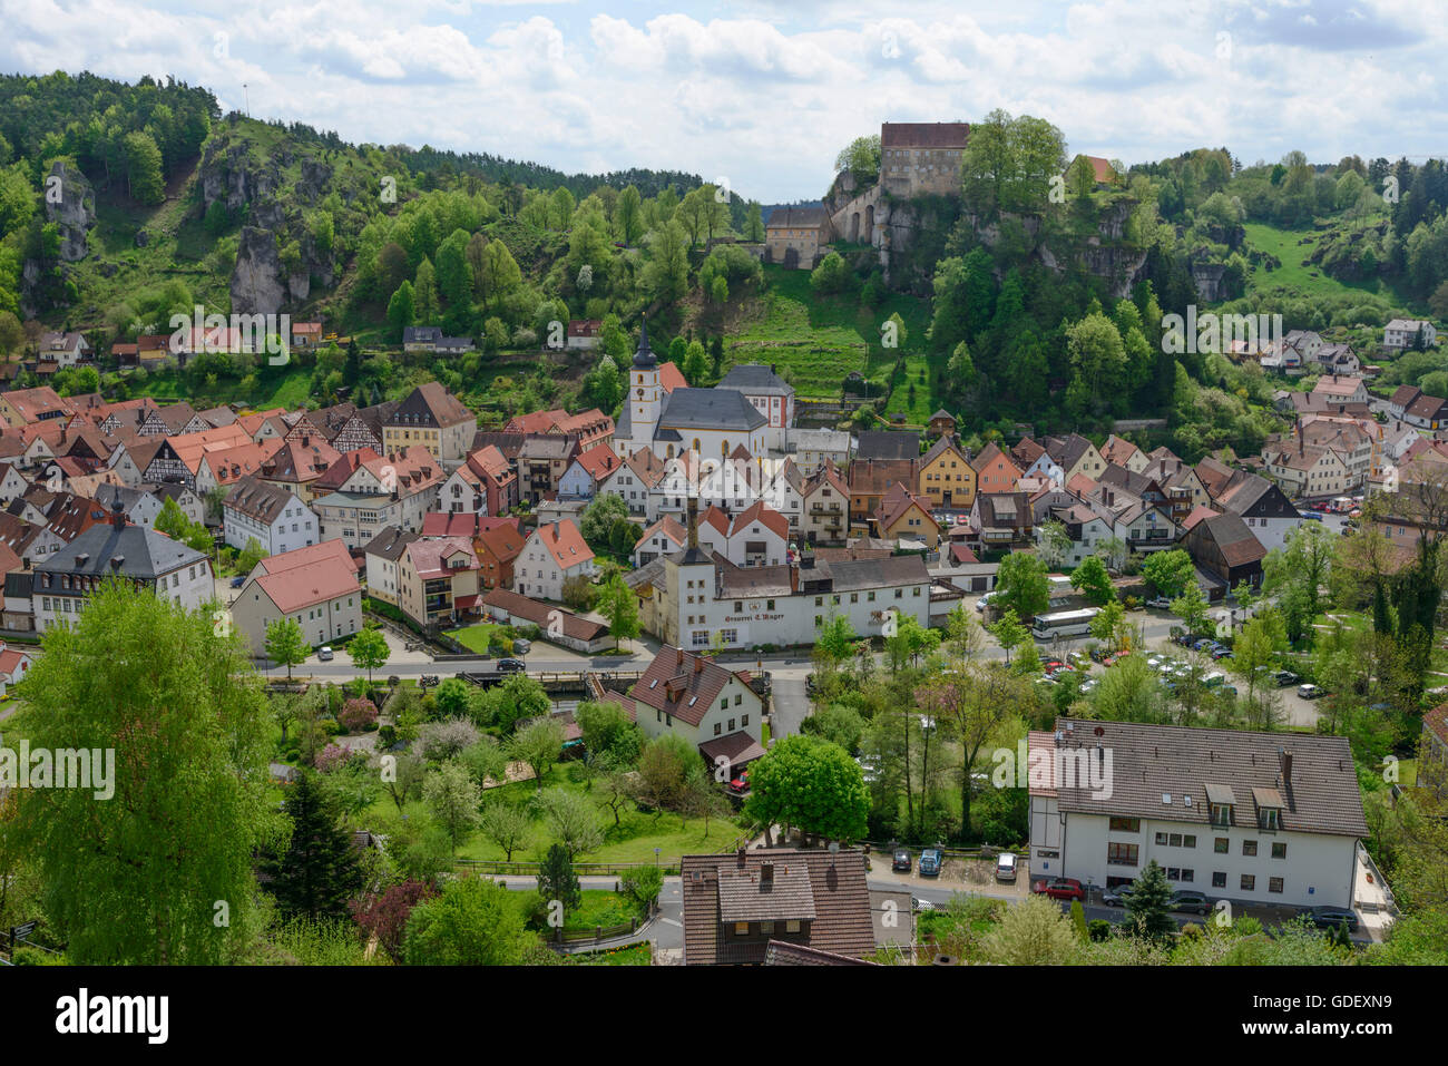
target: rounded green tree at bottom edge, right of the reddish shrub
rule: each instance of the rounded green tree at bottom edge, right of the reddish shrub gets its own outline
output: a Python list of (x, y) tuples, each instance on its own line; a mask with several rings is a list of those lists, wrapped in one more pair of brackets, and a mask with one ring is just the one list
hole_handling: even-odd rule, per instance
[(403, 954), (410, 966), (518, 966), (536, 943), (507, 888), (459, 878), (413, 908)]

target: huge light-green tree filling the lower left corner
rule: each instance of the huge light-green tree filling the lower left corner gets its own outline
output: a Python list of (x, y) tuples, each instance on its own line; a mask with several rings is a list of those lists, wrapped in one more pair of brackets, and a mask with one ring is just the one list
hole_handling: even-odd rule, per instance
[[(25, 681), (32, 750), (117, 753), (109, 802), (88, 789), (19, 789), (17, 831), (67, 954), (233, 959), (253, 907), (252, 855), (275, 824), (266, 701), (240, 637), (106, 582), (41, 647)], [(217, 902), (229, 924), (214, 921)]]

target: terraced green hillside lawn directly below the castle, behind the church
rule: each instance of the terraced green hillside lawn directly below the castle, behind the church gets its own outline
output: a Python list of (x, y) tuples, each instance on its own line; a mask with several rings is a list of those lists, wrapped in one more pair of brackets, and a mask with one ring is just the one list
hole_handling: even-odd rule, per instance
[[(736, 364), (775, 364), (789, 369), (799, 395), (838, 397), (850, 372), (866, 377), (889, 372), (896, 352), (880, 348), (880, 324), (893, 313), (905, 322), (904, 351), (924, 364), (924, 355), (914, 355), (924, 351), (930, 326), (924, 300), (892, 293), (870, 310), (853, 295), (815, 295), (809, 271), (766, 265), (757, 313), (724, 340), (724, 369)], [(934, 407), (925, 414), (931, 411)]]

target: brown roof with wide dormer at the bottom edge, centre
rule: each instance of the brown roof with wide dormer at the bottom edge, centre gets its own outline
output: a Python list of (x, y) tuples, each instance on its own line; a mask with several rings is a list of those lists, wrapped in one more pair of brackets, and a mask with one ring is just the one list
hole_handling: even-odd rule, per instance
[[(765, 863), (772, 876), (766, 881)], [(686, 855), (683, 960), (691, 966), (765, 962), (770, 941), (863, 959), (875, 952), (864, 853), (789, 847)], [(734, 921), (752, 923), (744, 937)], [(773, 921), (773, 931), (759, 923)], [(799, 921), (789, 933), (788, 921)], [(728, 924), (725, 924), (728, 923)]]

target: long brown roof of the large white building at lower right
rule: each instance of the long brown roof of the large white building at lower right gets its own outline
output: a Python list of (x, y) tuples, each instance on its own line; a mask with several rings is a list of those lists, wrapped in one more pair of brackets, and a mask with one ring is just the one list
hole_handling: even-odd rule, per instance
[[(1067, 726), (1073, 726), (1067, 731)], [(1047, 778), (1057, 752), (1072, 760), (1096, 756), (1098, 743), (1111, 752), (1111, 795), (1099, 797), (1082, 775), (1044, 782), (1031, 792), (1054, 791), (1063, 811), (1211, 823), (1208, 789), (1235, 795), (1235, 824), (1255, 826), (1254, 789), (1274, 789), (1283, 802), (1281, 826), (1297, 833), (1367, 836), (1363, 797), (1352, 750), (1345, 737), (1308, 733), (1253, 733), (1231, 729), (1190, 729), (1140, 721), (1074, 721), (1057, 718), (1050, 733), (1031, 733), (1030, 766)], [(1281, 753), (1292, 756), (1284, 772)], [(1076, 769), (1076, 762), (1066, 762)], [(1270, 801), (1258, 792), (1260, 798)], [(1187, 800), (1190, 798), (1190, 805)]]

